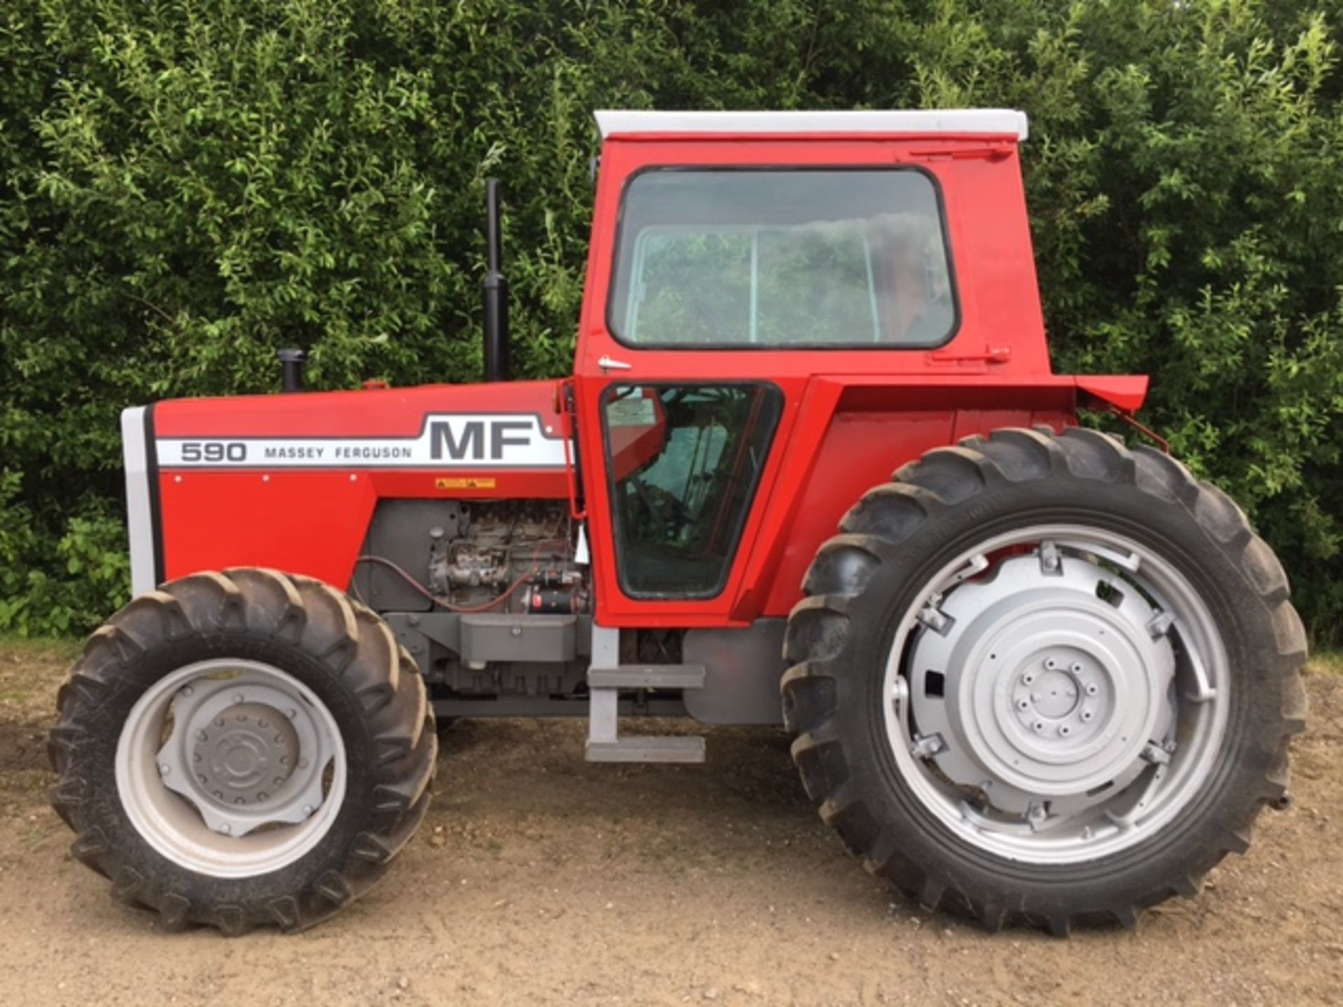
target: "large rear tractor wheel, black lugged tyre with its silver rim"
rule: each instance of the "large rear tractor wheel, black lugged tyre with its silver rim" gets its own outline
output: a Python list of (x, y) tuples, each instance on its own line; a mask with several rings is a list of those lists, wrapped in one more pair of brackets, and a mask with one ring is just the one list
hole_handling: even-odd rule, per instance
[(1193, 894), (1288, 781), (1305, 636), (1273, 553), (1171, 458), (1005, 430), (896, 473), (792, 611), (792, 753), (923, 904), (1131, 925)]

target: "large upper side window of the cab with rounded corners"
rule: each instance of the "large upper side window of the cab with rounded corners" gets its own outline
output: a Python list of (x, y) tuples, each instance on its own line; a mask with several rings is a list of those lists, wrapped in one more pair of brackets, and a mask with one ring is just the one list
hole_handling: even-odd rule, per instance
[(956, 326), (912, 169), (654, 171), (622, 208), (612, 334), (642, 346), (935, 346)]

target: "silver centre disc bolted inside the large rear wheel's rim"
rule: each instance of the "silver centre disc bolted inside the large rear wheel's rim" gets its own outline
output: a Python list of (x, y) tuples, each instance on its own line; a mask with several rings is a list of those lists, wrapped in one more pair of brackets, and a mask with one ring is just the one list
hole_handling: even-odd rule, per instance
[(1147, 628), (1155, 610), (1093, 563), (1050, 559), (1007, 559), (950, 591), (912, 651), (913, 718), (941, 737), (937, 768), (1017, 814), (1103, 800), (1170, 725), (1175, 659)]

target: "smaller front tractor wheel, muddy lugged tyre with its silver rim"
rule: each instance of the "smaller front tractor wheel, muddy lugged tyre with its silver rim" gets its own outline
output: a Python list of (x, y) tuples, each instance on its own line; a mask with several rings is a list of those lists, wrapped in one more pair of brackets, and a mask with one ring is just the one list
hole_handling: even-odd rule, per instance
[(73, 855), (175, 929), (310, 926), (383, 875), (428, 804), (423, 679), (375, 612), (310, 577), (197, 573), (134, 599), (58, 708)]

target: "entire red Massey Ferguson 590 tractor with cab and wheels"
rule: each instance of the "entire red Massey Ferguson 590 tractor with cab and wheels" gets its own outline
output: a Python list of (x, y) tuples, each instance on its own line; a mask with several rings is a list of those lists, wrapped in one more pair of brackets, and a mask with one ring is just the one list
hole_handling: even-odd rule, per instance
[[(1065, 934), (1285, 800), (1273, 553), (1050, 369), (1018, 111), (602, 111), (573, 375), (122, 415), (134, 597), (50, 737), (74, 855), (171, 928), (326, 918), (424, 816), (435, 717), (783, 724), (925, 906)], [(1135, 422), (1136, 426), (1136, 422)]]

